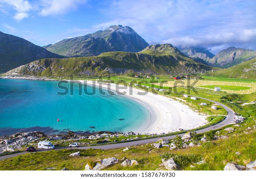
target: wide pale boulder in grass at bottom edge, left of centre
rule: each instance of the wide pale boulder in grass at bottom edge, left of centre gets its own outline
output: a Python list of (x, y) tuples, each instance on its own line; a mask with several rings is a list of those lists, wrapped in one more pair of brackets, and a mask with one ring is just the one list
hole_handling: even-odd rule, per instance
[(85, 166), (84, 170), (102, 170), (105, 167), (117, 164), (119, 162), (119, 159), (116, 159), (115, 157), (110, 157), (108, 159), (103, 160), (97, 160), (95, 161), (96, 165), (91, 169), (90, 166), (87, 164)]

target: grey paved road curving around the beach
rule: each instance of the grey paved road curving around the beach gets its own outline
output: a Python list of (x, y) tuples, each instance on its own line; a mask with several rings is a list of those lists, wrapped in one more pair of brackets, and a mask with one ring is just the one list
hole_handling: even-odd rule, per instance
[[(197, 96), (195, 96), (195, 97), (196, 98), (201, 98), (201, 97), (197, 97)], [(218, 123), (218, 124), (216, 124), (214, 126), (210, 126), (210, 127), (207, 127), (207, 128), (201, 129), (201, 130), (196, 130), (197, 133), (204, 133), (204, 132), (207, 132), (209, 130), (215, 130), (215, 129), (224, 127), (224, 126), (226, 126), (228, 124), (233, 124), (233, 119), (234, 119), (235, 115), (234, 115), (234, 111), (232, 109), (230, 109), (229, 107), (227, 107), (224, 104), (221, 104), (221, 103), (219, 103), (217, 101), (212, 101), (212, 100), (209, 100), (207, 98), (201, 98), (201, 99), (213, 102), (213, 103), (218, 104), (221, 107), (223, 107), (225, 110), (227, 110), (227, 117), (225, 118), (224, 121), (222, 121), (222, 122), (220, 122), (220, 123)], [(140, 141), (129, 141), (129, 142), (123, 142), (123, 143), (117, 143), (117, 144), (106, 144), (106, 145), (97, 145), (97, 146), (90, 146), (90, 147), (79, 147), (79, 149), (83, 150), (83, 149), (92, 148), (92, 149), (108, 150), (108, 149), (113, 149), (113, 148), (134, 146), (134, 145), (137, 145), (137, 144), (139, 145), (139, 144), (153, 143), (155, 141), (158, 141), (159, 139), (167, 139), (167, 140), (169, 140), (169, 139), (175, 138), (175, 136), (176, 135), (165, 136), (165, 137), (157, 137), (157, 138), (154, 138), (154, 139), (145, 139), (145, 140), (140, 140)], [(183, 134), (179, 134), (178, 136), (183, 136)], [(61, 150), (61, 149), (65, 149), (65, 148), (68, 148), (68, 147), (56, 147), (55, 150)], [(75, 148), (73, 148), (73, 149), (75, 149)], [(41, 149), (37, 150), (37, 152), (42, 152), (42, 151), (47, 151), (47, 150), (41, 150)], [(23, 155), (25, 153), (28, 153), (28, 152), (20, 152), (20, 153), (10, 154), (10, 155), (6, 155), (6, 156), (0, 156), (0, 160), (8, 159), (8, 158), (19, 156), (19, 155)]]

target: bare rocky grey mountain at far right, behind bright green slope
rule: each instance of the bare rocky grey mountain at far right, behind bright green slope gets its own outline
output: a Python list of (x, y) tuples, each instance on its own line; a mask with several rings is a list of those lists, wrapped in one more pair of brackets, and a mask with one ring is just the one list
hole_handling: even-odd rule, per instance
[(253, 58), (256, 58), (256, 51), (231, 46), (227, 49), (221, 50), (212, 59), (206, 59), (205, 61), (210, 66), (228, 68)]

